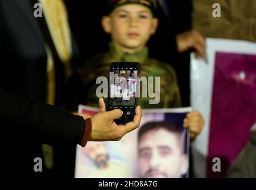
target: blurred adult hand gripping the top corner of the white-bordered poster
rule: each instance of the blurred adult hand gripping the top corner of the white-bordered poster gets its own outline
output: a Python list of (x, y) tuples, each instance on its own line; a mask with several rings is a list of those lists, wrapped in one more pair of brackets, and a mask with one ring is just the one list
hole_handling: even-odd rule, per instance
[(176, 35), (178, 52), (182, 53), (188, 49), (195, 49), (195, 53), (205, 58), (205, 39), (196, 30), (185, 31)]

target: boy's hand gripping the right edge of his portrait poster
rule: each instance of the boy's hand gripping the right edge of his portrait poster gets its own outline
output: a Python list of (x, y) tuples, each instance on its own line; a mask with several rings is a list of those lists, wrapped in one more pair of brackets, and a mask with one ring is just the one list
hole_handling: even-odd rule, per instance
[(204, 127), (204, 119), (202, 118), (201, 113), (193, 111), (188, 113), (184, 119), (183, 126), (190, 129), (190, 137), (193, 140)]

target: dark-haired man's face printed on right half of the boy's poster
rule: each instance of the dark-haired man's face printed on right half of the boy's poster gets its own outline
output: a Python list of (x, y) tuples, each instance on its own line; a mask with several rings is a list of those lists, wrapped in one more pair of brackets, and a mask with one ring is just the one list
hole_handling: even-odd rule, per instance
[(185, 130), (166, 121), (139, 128), (139, 177), (182, 178), (188, 172)]

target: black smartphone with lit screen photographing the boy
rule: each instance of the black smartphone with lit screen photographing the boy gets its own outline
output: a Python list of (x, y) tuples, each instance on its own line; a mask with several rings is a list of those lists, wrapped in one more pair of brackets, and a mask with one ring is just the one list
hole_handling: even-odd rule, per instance
[(133, 121), (138, 104), (139, 77), (141, 65), (138, 62), (112, 62), (108, 77), (107, 110), (121, 109), (123, 116), (116, 124)]

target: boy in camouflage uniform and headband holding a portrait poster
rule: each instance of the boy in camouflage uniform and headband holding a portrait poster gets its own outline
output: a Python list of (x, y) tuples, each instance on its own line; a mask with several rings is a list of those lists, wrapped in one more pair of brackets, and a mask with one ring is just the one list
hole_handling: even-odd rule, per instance
[[(176, 72), (166, 63), (150, 59), (146, 43), (155, 33), (158, 19), (156, 0), (108, 0), (107, 12), (102, 17), (104, 31), (111, 35), (110, 50), (101, 53), (94, 59), (87, 61), (79, 68), (82, 84), (86, 88), (88, 99), (86, 105), (98, 107), (96, 96), (96, 78), (108, 77), (111, 62), (127, 61), (141, 64), (141, 76), (160, 77), (160, 102), (149, 104), (149, 97), (138, 99), (138, 105), (145, 108), (181, 107), (179, 87)], [(159, 47), (161, 48), (161, 47)], [(151, 85), (151, 84), (148, 84)], [(154, 88), (155, 89), (155, 84)], [(191, 137), (195, 137), (204, 125), (199, 112), (191, 112), (185, 119), (184, 126), (191, 129)]]

